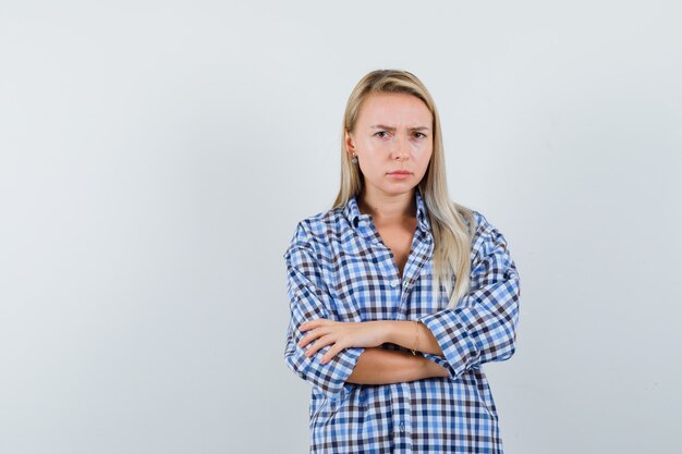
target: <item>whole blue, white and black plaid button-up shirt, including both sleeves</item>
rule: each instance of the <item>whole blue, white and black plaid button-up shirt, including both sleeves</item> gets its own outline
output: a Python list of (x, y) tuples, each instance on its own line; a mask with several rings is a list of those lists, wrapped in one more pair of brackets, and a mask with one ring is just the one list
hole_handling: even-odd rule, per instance
[[(502, 234), (474, 211), (471, 292), (455, 309), (433, 289), (434, 238), (415, 189), (417, 229), (402, 279), (372, 217), (356, 198), (301, 221), (284, 254), (291, 320), (285, 361), (312, 384), (312, 453), (501, 453), (498, 415), (482, 365), (511, 357), (519, 321), (519, 273)], [(307, 320), (418, 320), (444, 357), (423, 354), (448, 378), (393, 384), (346, 383), (364, 348), (329, 363), (296, 344)], [(407, 349), (383, 344), (388, 349)]]

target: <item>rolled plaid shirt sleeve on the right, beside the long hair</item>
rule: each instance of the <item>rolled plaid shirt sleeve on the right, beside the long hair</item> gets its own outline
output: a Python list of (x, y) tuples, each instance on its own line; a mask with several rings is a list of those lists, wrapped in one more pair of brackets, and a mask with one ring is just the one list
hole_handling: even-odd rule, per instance
[(521, 289), (504, 236), (483, 214), (472, 238), (468, 294), (456, 308), (421, 317), (443, 356), (424, 354), (444, 367), (451, 379), (488, 361), (509, 359), (515, 352)]

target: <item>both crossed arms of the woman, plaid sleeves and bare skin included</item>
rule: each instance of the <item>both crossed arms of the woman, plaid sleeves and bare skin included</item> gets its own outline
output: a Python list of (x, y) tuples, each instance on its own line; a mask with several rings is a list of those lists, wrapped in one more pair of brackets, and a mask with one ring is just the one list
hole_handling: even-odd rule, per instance
[[(473, 238), (470, 292), (455, 308), (421, 316), (419, 324), (414, 320), (331, 320), (328, 309), (334, 303), (318, 253), (309, 243), (310, 234), (300, 224), (284, 255), (291, 309), (287, 365), (331, 396), (352, 388), (352, 383), (385, 384), (431, 377), (456, 380), (470, 368), (510, 358), (519, 322), (519, 273), (502, 234), (482, 216), (479, 221)], [(303, 347), (310, 343), (306, 355)], [(422, 354), (380, 348), (383, 343)]]

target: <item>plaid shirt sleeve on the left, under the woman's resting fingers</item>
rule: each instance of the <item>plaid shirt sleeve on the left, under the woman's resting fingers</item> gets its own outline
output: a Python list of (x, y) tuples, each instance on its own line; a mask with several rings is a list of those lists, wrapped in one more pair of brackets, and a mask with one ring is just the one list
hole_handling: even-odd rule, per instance
[(327, 364), (321, 364), (321, 358), (330, 345), (320, 348), (310, 358), (306, 357), (304, 348), (297, 345), (305, 334), (299, 330), (302, 323), (318, 318), (331, 319), (329, 310), (332, 307), (331, 295), (322, 279), (322, 267), (318, 258), (321, 256), (316, 253), (309, 238), (310, 235), (303, 223), (299, 223), (291, 245), (284, 253), (291, 316), (284, 358), (287, 366), (296, 376), (317, 386), (328, 397), (334, 398), (353, 386), (345, 381), (365, 348), (344, 348)]

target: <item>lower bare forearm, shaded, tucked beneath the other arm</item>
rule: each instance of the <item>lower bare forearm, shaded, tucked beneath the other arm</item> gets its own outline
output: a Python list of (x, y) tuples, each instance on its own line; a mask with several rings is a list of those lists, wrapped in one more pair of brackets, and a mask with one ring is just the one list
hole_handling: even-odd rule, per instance
[(430, 377), (448, 377), (448, 371), (422, 355), (370, 347), (365, 348), (360, 355), (355, 369), (346, 381), (360, 384), (387, 384)]

